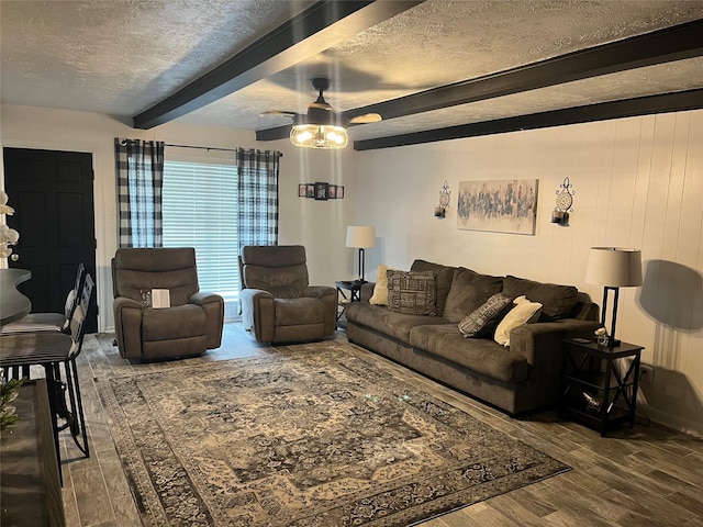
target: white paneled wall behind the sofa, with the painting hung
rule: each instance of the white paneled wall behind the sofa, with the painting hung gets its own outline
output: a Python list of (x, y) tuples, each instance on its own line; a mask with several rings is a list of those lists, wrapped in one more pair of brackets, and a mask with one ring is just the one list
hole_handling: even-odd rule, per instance
[[(583, 282), (589, 247), (641, 249), (645, 284), (621, 290), (617, 329), (656, 367), (641, 408), (703, 436), (703, 111), (362, 152), (357, 164), (357, 218), (379, 237), (367, 269), (424, 258), (573, 284), (600, 304), (602, 289)], [(565, 177), (576, 195), (559, 227)], [(459, 181), (523, 178), (539, 180), (534, 236), (457, 228)], [(444, 180), (451, 204), (437, 220)]]

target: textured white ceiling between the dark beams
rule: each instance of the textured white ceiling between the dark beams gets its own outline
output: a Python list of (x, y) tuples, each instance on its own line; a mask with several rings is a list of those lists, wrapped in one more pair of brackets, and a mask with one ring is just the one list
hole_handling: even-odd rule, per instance
[[(129, 120), (313, 3), (1, 0), (1, 100)], [(426, 0), (323, 49), (295, 47), (281, 69), (269, 67), (177, 121), (261, 131), (290, 123), (263, 111), (305, 111), (315, 99), (312, 77), (331, 78), (325, 98), (348, 111), (701, 19), (700, 0)], [(700, 88), (703, 58), (695, 56), (354, 126), (350, 137)]]

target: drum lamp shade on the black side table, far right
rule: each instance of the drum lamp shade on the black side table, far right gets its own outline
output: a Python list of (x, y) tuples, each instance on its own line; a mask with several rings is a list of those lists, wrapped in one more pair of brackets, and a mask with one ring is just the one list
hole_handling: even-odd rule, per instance
[(612, 288), (641, 285), (641, 253), (622, 247), (591, 247), (585, 282)]

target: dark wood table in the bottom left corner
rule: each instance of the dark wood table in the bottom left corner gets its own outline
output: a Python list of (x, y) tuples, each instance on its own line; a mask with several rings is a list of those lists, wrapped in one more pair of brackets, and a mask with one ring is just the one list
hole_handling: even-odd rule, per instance
[(0, 525), (66, 525), (46, 381), (29, 381), (13, 405), (20, 421), (0, 437)]

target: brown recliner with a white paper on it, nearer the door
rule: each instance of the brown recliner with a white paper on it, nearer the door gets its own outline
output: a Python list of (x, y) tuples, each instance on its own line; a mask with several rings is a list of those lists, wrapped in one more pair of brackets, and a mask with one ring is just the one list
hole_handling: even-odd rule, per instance
[[(121, 357), (167, 359), (220, 347), (224, 300), (200, 292), (192, 247), (118, 249), (112, 285)], [(142, 292), (153, 289), (168, 289), (170, 307), (143, 305)]]

